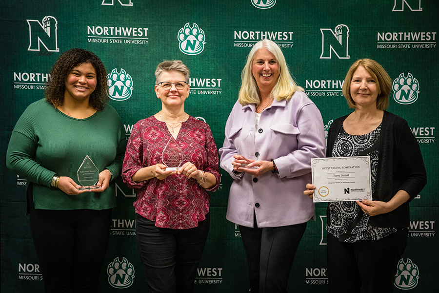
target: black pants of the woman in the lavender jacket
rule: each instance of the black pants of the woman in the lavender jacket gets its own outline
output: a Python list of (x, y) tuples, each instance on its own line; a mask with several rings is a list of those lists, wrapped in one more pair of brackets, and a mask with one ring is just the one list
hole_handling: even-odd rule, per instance
[(253, 293), (286, 293), (288, 277), (306, 222), (270, 228), (239, 226)]

